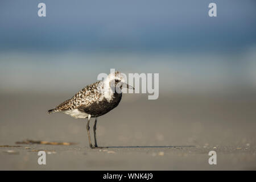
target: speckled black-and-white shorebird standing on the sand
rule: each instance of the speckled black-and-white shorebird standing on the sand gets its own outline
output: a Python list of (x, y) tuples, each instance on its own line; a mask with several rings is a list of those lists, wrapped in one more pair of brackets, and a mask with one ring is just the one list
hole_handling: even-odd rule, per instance
[[(97, 118), (118, 106), (122, 98), (122, 88), (134, 89), (128, 85), (120, 72), (110, 73), (104, 80), (85, 86), (71, 99), (62, 102), (48, 113), (61, 112), (73, 118), (87, 119), (86, 130), (90, 148), (97, 148)], [(95, 118), (93, 126), (94, 146), (90, 140), (90, 118)]]

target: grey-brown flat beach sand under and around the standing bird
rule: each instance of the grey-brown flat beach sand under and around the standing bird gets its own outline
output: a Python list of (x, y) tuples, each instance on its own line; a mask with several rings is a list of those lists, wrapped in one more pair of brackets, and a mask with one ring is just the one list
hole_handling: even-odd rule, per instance
[[(108, 148), (90, 149), (85, 121), (46, 113), (67, 96), (0, 96), (1, 170), (256, 169), (256, 97), (126, 94), (98, 119), (98, 145)], [(74, 144), (16, 143), (26, 139)], [(212, 150), (217, 165), (208, 163)]]

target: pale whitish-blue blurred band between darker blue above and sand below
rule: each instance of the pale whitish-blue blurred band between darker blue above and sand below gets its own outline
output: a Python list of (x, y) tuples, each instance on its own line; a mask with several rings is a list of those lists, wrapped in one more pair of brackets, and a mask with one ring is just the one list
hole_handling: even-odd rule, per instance
[(75, 94), (114, 68), (159, 73), (160, 94), (253, 94), (256, 48), (237, 53), (0, 53), (1, 94)]

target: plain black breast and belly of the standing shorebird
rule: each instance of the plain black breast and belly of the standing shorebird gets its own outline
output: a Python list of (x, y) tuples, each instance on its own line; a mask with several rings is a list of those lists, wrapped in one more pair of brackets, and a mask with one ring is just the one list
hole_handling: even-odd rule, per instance
[(106, 100), (106, 98), (104, 98), (101, 101), (94, 102), (88, 107), (82, 108), (82, 110), (84, 110), (85, 113), (90, 114), (92, 117), (99, 117), (117, 107), (119, 102), (121, 101), (121, 98), (122, 93), (115, 93), (113, 99), (110, 100), (110, 102)]

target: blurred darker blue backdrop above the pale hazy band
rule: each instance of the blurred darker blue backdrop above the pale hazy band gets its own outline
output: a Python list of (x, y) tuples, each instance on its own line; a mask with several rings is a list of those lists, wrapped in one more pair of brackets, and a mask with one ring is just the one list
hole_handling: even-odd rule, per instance
[[(47, 17), (38, 17), (38, 3)], [(210, 2), (217, 17), (208, 16)], [(1, 0), (0, 50), (237, 51), (255, 45), (256, 1)]]

